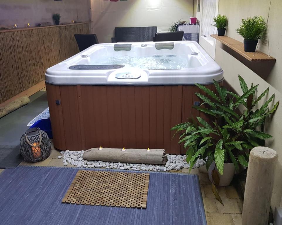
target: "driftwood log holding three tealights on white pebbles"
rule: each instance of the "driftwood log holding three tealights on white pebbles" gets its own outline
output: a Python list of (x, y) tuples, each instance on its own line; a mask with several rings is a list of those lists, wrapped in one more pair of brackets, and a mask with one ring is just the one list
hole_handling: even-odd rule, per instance
[(92, 148), (84, 151), (83, 158), (86, 160), (101, 160), (123, 163), (165, 164), (167, 156), (164, 149), (111, 149)]

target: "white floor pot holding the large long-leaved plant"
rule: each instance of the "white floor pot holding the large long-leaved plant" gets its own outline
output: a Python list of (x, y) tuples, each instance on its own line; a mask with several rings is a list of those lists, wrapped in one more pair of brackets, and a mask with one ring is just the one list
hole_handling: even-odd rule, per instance
[[(215, 168), (215, 170), (218, 172), (218, 169), (215, 166), (215, 161), (212, 162), (210, 167), (208, 168), (208, 178), (210, 179), (210, 182), (212, 182), (212, 171)], [(228, 186), (230, 185), (233, 177), (235, 174), (235, 166), (233, 163), (224, 163), (223, 166), (223, 175), (219, 175), (219, 184), (218, 186)]]

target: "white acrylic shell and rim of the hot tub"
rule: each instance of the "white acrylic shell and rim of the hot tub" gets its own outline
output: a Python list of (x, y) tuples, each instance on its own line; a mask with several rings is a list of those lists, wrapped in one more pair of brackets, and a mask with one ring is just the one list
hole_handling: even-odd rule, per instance
[[(115, 51), (115, 43), (97, 44), (70, 57), (69, 59), (47, 69), (45, 81), (50, 84), (86, 84), (86, 85), (192, 85), (194, 83), (209, 84), (223, 80), (221, 67), (193, 41), (175, 41), (174, 49), (157, 50), (156, 43), (166, 42), (122, 42), (118, 44), (132, 44), (131, 51)], [(169, 42), (171, 43), (171, 42)], [(142, 47), (141, 45), (147, 45)], [(191, 55), (197, 52), (198, 55)], [(152, 54), (187, 54), (191, 58), (191, 68), (184, 69), (139, 69), (125, 65), (120, 69), (111, 70), (71, 70), (69, 67), (79, 64), (91, 64), (95, 57), (109, 57), (117, 55), (152, 56)], [(87, 57), (82, 57), (82, 56)], [(193, 60), (195, 63), (193, 63)], [(200, 66), (199, 66), (200, 65)], [(130, 72), (140, 75), (138, 79), (117, 79), (118, 73)]]

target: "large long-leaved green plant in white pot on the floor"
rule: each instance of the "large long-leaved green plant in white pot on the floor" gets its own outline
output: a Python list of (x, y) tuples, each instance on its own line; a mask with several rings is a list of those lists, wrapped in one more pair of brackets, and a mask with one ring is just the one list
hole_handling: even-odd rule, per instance
[[(198, 158), (206, 162), (212, 189), (218, 200), (220, 197), (214, 184), (227, 186), (240, 165), (248, 167), (249, 151), (256, 146), (263, 146), (264, 139), (272, 137), (263, 132), (263, 125), (266, 117), (275, 112), (279, 104), (279, 101), (276, 102), (269, 110), (273, 94), (257, 108), (257, 103), (267, 95), (269, 88), (256, 98), (258, 85), (252, 83), (248, 88), (240, 75), (239, 83), (243, 92), (241, 96), (227, 91), (215, 81), (216, 92), (196, 84), (205, 93), (196, 93), (205, 107), (194, 107), (208, 115), (209, 119), (197, 117), (198, 122), (191, 119), (192, 122), (172, 128), (180, 133), (179, 144), (184, 144), (187, 149), (186, 160), (190, 163), (190, 171)], [(244, 110), (240, 112), (242, 107)]]

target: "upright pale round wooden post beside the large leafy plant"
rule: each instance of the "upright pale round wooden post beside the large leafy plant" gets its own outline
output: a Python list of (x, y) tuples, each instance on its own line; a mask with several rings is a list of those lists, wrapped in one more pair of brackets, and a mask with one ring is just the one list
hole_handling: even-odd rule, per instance
[(273, 189), (273, 173), (278, 154), (267, 147), (250, 152), (242, 225), (267, 225)]

